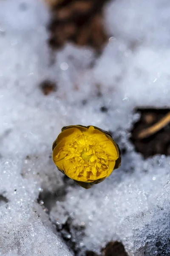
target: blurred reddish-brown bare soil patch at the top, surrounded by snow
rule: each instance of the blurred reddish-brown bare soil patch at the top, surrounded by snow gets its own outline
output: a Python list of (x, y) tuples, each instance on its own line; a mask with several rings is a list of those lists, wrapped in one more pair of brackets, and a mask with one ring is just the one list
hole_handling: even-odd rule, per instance
[(67, 41), (101, 52), (108, 40), (102, 10), (108, 0), (46, 0), (51, 6), (49, 44), (58, 49)]

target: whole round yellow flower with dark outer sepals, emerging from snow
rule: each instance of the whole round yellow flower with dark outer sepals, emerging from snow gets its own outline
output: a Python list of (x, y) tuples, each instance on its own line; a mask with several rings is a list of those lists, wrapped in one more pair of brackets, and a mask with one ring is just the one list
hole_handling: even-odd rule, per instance
[(101, 182), (121, 164), (111, 134), (95, 126), (63, 127), (52, 149), (57, 168), (85, 188)]

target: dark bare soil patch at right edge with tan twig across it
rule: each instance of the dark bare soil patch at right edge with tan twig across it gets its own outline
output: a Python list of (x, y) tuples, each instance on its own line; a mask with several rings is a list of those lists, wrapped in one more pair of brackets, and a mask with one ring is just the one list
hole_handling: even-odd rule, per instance
[(137, 109), (141, 118), (131, 131), (136, 151), (145, 158), (155, 154), (170, 155), (170, 109)]

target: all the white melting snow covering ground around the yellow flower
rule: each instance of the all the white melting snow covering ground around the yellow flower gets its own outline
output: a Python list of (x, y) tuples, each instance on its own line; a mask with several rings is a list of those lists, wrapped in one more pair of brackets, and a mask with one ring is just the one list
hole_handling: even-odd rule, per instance
[[(111, 38), (89, 69), (93, 50), (71, 44), (52, 53), (52, 64), (42, 2), (0, 1), (2, 255), (72, 255), (51, 223), (69, 215), (85, 227), (80, 247), (99, 252), (118, 239), (130, 255), (170, 255), (170, 157), (143, 160), (128, 140), (139, 118), (134, 108), (170, 107), (169, 13), (168, 0), (109, 3), (105, 27)], [(57, 83), (56, 93), (42, 94), (45, 79)], [(96, 96), (99, 87), (102, 97)], [(100, 111), (103, 105), (107, 113)], [(127, 150), (122, 166), (89, 190), (65, 187), (49, 158), (62, 126), (71, 124), (110, 130)], [(53, 202), (49, 221), (38, 195), (63, 187), (67, 194)]]

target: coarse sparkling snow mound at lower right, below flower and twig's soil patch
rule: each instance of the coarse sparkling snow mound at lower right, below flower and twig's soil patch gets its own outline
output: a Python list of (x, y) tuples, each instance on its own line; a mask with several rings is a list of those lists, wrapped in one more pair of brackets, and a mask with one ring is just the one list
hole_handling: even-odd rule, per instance
[[(99, 186), (87, 192), (69, 189), (66, 201), (57, 202), (51, 215), (64, 206), (79, 225), (84, 222), (86, 236), (82, 242), (89, 250), (99, 250), (106, 241), (118, 239), (129, 253), (132, 247), (137, 253), (151, 235), (154, 239), (169, 236), (169, 160), (155, 157), (144, 161), (131, 153), (124, 157), (121, 169)], [(154, 239), (148, 255), (156, 255)]]

